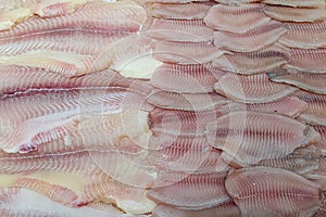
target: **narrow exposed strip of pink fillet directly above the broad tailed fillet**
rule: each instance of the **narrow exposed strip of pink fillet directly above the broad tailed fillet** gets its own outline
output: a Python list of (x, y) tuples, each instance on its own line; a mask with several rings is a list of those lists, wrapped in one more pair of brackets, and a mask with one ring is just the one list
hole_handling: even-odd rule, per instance
[(297, 117), (308, 108), (308, 104), (296, 97), (286, 97), (278, 101), (268, 103), (255, 103), (244, 104), (238, 102), (229, 102), (226, 105), (222, 105), (220, 110), (226, 113), (249, 111), (249, 112), (264, 112), (264, 113), (277, 113), (289, 117)]

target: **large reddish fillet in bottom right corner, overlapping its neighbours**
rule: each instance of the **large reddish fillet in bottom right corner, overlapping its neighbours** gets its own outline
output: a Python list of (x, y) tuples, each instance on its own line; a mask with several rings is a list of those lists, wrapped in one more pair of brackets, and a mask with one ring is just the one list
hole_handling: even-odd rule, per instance
[(243, 216), (313, 216), (322, 200), (319, 186), (280, 168), (239, 169), (225, 186)]

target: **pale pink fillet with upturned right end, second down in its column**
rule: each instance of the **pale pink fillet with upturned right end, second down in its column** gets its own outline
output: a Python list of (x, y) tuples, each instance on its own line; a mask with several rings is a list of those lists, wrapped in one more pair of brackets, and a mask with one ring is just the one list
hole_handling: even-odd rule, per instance
[(283, 23), (268, 23), (246, 33), (215, 31), (214, 44), (235, 52), (252, 52), (275, 43), (287, 31)]

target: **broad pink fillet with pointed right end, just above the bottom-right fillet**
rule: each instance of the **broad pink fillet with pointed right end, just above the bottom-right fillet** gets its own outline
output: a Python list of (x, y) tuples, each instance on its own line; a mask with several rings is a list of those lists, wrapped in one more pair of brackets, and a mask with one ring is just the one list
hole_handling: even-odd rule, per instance
[(206, 125), (208, 142), (223, 150), (223, 159), (238, 166), (279, 158), (321, 141), (312, 127), (278, 114), (234, 112)]

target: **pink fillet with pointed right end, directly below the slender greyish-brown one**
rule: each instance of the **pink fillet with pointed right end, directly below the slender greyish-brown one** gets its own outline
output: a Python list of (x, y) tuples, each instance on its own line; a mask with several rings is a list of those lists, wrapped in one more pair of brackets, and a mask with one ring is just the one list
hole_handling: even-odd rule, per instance
[(266, 103), (293, 94), (298, 89), (273, 82), (266, 74), (244, 76), (228, 73), (218, 79), (214, 90), (236, 102)]

